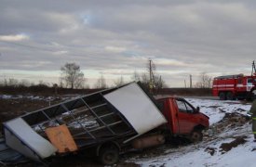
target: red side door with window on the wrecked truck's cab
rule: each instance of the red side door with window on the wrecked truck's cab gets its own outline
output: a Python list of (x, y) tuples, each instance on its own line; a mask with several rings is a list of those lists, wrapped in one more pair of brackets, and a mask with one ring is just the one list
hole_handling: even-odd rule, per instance
[(176, 99), (178, 111), (178, 122), (180, 134), (190, 134), (196, 124), (196, 111), (187, 101), (183, 99)]

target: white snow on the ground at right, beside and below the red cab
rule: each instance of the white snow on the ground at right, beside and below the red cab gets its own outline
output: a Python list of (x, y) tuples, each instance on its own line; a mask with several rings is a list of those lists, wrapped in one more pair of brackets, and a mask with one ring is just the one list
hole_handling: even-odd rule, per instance
[[(186, 98), (193, 106), (209, 116), (211, 127), (222, 121), (225, 113), (240, 113), (246, 115), (250, 104), (239, 101), (220, 101), (208, 99)], [(241, 116), (242, 117), (242, 116)], [(236, 145), (237, 143), (237, 145)], [(224, 147), (231, 147), (224, 150)], [(163, 154), (154, 158), (133, 158), (141, 166), (168, 167), (255, 167), (256, 142), (253, 142), (251, 123), (227, 127), (220, 134), (205, 137), (198, 144), (167, 148)]]

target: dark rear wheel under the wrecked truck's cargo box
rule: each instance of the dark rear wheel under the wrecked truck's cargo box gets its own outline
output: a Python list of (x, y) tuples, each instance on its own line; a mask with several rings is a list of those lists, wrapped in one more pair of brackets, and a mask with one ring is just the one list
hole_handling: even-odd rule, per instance
[(112, 165), (119, 161), (119, 149), (115, 146), (101, 148), (99, 159), (104, 165)]

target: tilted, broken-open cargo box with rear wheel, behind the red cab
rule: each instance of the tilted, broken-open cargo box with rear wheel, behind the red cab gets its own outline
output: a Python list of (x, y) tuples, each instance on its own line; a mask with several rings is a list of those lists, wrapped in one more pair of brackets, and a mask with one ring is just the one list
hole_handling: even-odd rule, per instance
[[(0, 161), (15, 160), (20, 154), (44, 162), (92, 149), (103, 164), (113, 164), (122, 148), (166, 122), (141, 85), (128, 83), (4, 122)], [(145, 146), (164, 142), (161, 135), (149, 139)]]

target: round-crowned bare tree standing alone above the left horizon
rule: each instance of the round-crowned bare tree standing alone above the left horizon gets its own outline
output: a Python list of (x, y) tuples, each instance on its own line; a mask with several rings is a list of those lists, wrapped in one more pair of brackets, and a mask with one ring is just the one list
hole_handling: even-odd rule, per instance
[(85, 78), (80, 66), (75, 63), (66, 63), (61, 67), (61, 83), (72, 89), (83, 87)]

